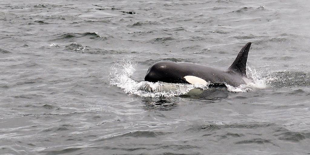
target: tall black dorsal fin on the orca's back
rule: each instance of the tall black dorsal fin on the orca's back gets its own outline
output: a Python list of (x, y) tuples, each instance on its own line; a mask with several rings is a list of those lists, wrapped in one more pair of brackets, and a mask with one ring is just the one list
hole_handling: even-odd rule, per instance
[(232, 65), (228, 68), (229, 70), (240, 73), (241, 75), (246, 76), (246, 60), (248, 59), (248, 53), (250, 50), (252, 42), (246, 43), (240, 50), (237, 55), (236, 60), (232, 63)]

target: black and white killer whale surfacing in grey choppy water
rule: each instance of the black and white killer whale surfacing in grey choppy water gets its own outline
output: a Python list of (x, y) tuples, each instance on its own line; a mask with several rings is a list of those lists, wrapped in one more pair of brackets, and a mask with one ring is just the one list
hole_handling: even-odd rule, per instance
[(251, 44), (251, 42), (248, 42), (242, 47), (235, 61), (228, 69), (219, 69), (195, 63), (175, 63), (162, 60), (148, 68), (144, 81), (209, 84), (209, 87), (225, 86), (224, 84), (231, 86), (246, 84), (248, 81), (246, 76), (246, 61)]

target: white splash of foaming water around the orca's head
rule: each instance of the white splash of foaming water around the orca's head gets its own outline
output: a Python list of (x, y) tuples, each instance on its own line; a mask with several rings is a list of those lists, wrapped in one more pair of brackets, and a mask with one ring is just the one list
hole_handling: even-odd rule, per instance
[(175, 84), (165, 82), (137, 82), (131, 79), (135, 72), (135, 62), (123, 60), (113, 66), (110, 84), (121, 88), (125, 93), (142, 97), (173, 97), (185, 95), (195, 88), (207, 89), (206, 85)]

